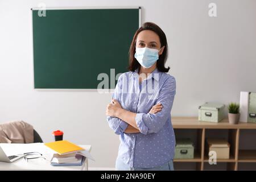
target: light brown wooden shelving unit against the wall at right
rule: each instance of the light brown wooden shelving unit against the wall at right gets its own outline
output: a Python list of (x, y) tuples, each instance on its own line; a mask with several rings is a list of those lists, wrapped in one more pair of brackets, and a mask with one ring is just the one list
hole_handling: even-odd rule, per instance
[[(218, 165), (221, 170), (235, 170), (237, 171), (240, 164), (249, 163), (256, 166), (256, 138), (252, 139), (251, 148), (243, 149), (240, 147), (241, 135), (247, 131), (253, 130), (254, 137), (256, 136), (256, 124), (255, 123), (238, 123), (237, 125), (229, 124), (228, 118), (223, 119), (218, 123), (201, 122), (197, 117), (172, 117), (172, 126), (175, 130), (176, 138), (183, 138), (183, 131), (185, 135), (191, 133), (191, 138), (195, 140), (195, 158), (194, 159), (174, 159), (174, 166), (176, 164), (182, 164), (187, 166), (194, 166), (195, 168), (189, 168), (190, 170), (211, 170), (218, 169)], [(242, 131), (242, 133), (241, 133)], [(195, 136), (196, 135), (196, 136)], [(186, 136), (187, 138), (188, 136)], [(217, 159), (216, 165), (210, 165), (208, 162), (207, 150), (205, 148), (205, 139), (208, 137), (225, 137), (230, 143), (230, 158), (229, 159)], [(251, 140), (251, 138), (248, 138)], [(241, 165), (242, 166), (242, 165)], [(182, 168), (181, 168), (182, 169)], [(187, 168), (188, 169), (188, 168)], [(189, 170), (188, 169), (188, 170)], [(179, 168), (175, 168), (179, 170)], [(253, 168), (256, 170), (256, 168)]]

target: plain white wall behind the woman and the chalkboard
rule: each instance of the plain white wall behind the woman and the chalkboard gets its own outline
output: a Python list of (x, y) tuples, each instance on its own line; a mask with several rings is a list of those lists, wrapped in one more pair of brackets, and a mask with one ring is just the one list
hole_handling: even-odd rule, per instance
[[(10, 1), (0, 0), (0, 123), (22, 119), (44, 142), (51, 132), (92, 144), (96, 162), (114, 167), (118, 136), (106, 122), (111, 94), (33, 89), (31, 7), (142, 6), (142, 23), (158, 24), (167, 35), (167, 65), (176, 77), (173, 116), (196, 116), (206, 101), (239, 101), (241, 90), (256, 91), (256, 1)], [(208, 4), (217, 4), (209, 18)], [(128, 50), (127, 50), (128, 51)]]

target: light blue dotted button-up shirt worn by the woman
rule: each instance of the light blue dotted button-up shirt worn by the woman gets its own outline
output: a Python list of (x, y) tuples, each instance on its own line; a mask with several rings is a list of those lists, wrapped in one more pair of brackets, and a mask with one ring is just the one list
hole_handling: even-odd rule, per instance
[[(123, 109), (137, 113), (135, 120), (141, 133), (124, 133), (128, 124), (119, 118), (108, 117), (107, 120), (115, 134), (120, 135), (118, 157), (129, 167), (153, 168), (174, 158), (171, 109), (175, 94), (175, 78), (157, 68), (142, 81), (141, 90), (138, 69), (119, 76), (113, 98)], [(162, 110), (156, 114), (148, 113), (158, 103), (163, 105)]]

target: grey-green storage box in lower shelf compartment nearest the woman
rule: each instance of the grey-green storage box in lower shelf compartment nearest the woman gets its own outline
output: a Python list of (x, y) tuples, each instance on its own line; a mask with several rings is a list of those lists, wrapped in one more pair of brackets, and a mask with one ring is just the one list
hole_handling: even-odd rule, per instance
[(194, 146), (190, 139), (178, 139), (176, 141), (174, 159), (193, 159)]

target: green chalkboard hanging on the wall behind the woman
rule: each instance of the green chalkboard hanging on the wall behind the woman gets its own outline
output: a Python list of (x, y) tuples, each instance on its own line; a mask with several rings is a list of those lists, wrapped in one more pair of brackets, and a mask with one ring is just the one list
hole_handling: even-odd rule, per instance
[(45, 15), (32, 10), (36, 89), (97, 89), (100, 73), (108, 74), (113, 88), (110, 69), (127, 72), (139, 9), (59, 9)]

